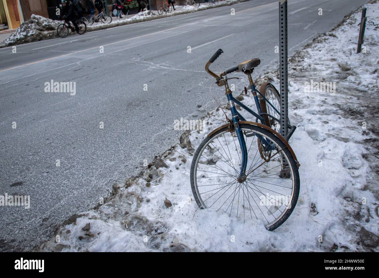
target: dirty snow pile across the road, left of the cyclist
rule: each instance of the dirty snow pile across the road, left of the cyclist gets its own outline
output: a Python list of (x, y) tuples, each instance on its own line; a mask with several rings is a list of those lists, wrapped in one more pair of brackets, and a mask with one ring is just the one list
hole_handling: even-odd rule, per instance
[(23, 22), (4, 43), (6, 45), (13, 45), (56, 37), (56, 28), (60, 23), (60, 21), (32, 14), (30, 19)]

